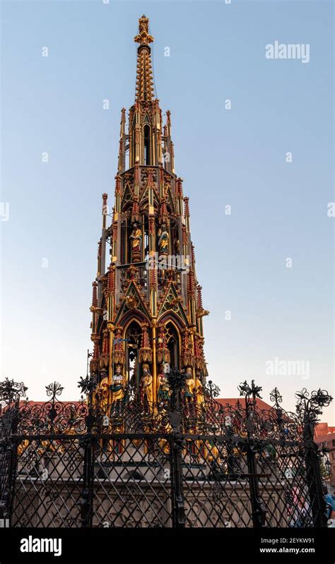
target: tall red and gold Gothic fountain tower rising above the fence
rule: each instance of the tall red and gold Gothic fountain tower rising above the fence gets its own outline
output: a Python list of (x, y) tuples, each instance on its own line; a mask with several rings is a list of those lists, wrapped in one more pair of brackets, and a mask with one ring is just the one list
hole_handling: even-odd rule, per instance
[[(172, 119), (155, 99), (146, 16), (139, 19), (136, 95), (121, 111), (114, 208), (108, 226), (102, 195), (102, 234), (90, 308), (91, 373), (118, 412), (129, 397), (165, 404), (167, 373), (187, 371), (187, 402), (202, 402), (206, 379), (201, 287), (190, 233), (189, 198), (175, 174)], [(110, 252), (106, 251), (110, 246)], [(109, 260), (110, 257), (110, 260)], [(150, 411), (150, 409), (149, 409)]]

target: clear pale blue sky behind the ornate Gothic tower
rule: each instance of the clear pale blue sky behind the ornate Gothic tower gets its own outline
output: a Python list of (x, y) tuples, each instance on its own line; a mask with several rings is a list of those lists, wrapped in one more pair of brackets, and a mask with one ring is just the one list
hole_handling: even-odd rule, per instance
[[(277, 385), (288, 408), (303, 386), (335, 395), (333, 9), (320, 0), (1, 3), (1, 376), (24, 380), (31, 399), (54, 379), (65, 399), (78, 397), (101, 194), (112, 204), (146, 13), (211, 311), (210, 376), (223, 397), (237, 397), (245, 379), (263, 385), (265, 400)], [(266, 59), (276, 40), (310, 44), (310, 63)], [(274, 357), (309, 361), (310, 378), (266, 375)], [(334, 424), (334, 407), (323, 419)]]

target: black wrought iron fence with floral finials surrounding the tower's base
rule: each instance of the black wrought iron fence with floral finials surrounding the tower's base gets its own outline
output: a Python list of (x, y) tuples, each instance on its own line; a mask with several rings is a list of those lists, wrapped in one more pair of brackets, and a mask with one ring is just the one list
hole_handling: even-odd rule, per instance
[(314, 431), (324, 390), (297, 393), (295, 413), (261, 388), (239, 387), (236, 405), (204, 385), (191, 401), (185, 376), (170, 374), (170, 394), (143, 404), (127, 390), (100, 401), (20, 401), (23, 384), (0, 383), (0, 517), (12, 527), (325, 527), (320, 452)]

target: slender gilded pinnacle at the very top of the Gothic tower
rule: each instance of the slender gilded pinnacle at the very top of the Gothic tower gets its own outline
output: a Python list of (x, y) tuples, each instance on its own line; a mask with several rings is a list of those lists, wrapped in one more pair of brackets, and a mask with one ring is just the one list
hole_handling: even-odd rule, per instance
[(137, 49), (136, 100), (151, 102), (153, 99), (153, 69), (151, 65), (151, 48), (153, 36), (149, 34), (149, 20), (146, 16), (139, 18), (139, 34), (134, 41), (139, 43)]

